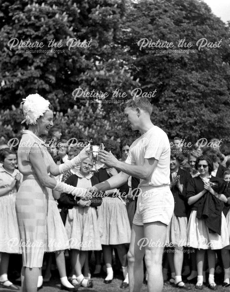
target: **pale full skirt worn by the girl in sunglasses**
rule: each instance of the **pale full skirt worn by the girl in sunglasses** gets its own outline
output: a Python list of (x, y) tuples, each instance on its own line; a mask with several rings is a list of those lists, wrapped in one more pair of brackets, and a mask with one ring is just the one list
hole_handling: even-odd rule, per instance
[(187, 227), (187, 246), (201, 249), (221, 249), (229, 245), (227, 224), (222, 212), (221, 235), (209, 233), (205, 220), (197, 219), (197, 211), (192, 210)]

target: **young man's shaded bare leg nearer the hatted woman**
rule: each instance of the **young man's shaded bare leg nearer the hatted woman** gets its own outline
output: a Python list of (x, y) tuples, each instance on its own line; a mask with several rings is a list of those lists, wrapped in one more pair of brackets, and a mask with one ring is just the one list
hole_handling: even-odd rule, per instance
[[(129, 291), (140, 292), (144, 278), (143, 257), (145, 249), (141, 248), (140, 242), (144, 238), (144, 228), (132, 225), (130, 247), (128, 251)], [(139, 242), (139, 244), (138, 244)]]

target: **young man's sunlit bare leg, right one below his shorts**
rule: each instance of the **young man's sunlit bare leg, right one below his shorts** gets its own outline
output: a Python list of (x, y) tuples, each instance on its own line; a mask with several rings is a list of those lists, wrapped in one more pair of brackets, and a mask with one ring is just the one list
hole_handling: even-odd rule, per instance
[(145, 264), (148, 272), (148, 291), (161, 292), (163, 289), (162, 255), (166, 239), (166, 225), (157, 221), (144, 224)]

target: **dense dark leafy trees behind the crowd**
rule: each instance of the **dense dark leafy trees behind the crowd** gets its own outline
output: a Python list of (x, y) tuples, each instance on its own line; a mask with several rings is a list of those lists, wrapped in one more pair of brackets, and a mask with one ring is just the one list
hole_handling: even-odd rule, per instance
[[(169, 138), (230, 142), (230, 26), (203, 1), (3, 0), (0, 24), (0, 137), (20, 138), (20, 102), (39, 93), (54, 105), (63, 138), (135, 138), (139, 134), (126, 127), (119, 104), (141, 88), (155, 91), (152, 120)], [(90, 46), (69, 48), (74, 38)], [(143, 38), (173, 42), (174, 49), (185, 39), (193, 51), (148, 53), (155, 48), (140, 50)], [(201, 38), (222, 40), (221, 46), (199, 49)], [(10, 48), (11, 39), (43, 42), (49, 52), (18, 52), (39, 48)], [(54, 40), (60, 48), (48, 48)], [(108, 97), (74, 98), (76, 88)], [(113, 96), (118, 89), (125, 98)]]

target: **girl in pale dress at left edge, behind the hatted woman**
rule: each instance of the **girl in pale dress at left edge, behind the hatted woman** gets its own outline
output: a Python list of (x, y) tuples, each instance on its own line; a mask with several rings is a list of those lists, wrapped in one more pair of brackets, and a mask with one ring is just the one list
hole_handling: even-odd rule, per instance
[(0, 287), (19, 290), (8, 280), (7, 272), (10, 253), (21, 253), (15, 200), (22, 175), (15, 169), (15, 151), (1, 149), (0, 162)]

